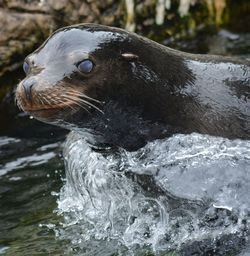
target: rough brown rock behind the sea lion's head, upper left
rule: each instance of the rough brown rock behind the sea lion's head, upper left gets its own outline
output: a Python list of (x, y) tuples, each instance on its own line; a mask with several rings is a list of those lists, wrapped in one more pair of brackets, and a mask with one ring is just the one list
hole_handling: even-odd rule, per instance
[(114, 0), (0, 1), (0, 81), (55, 29), (82, 22), (114, 23)]

